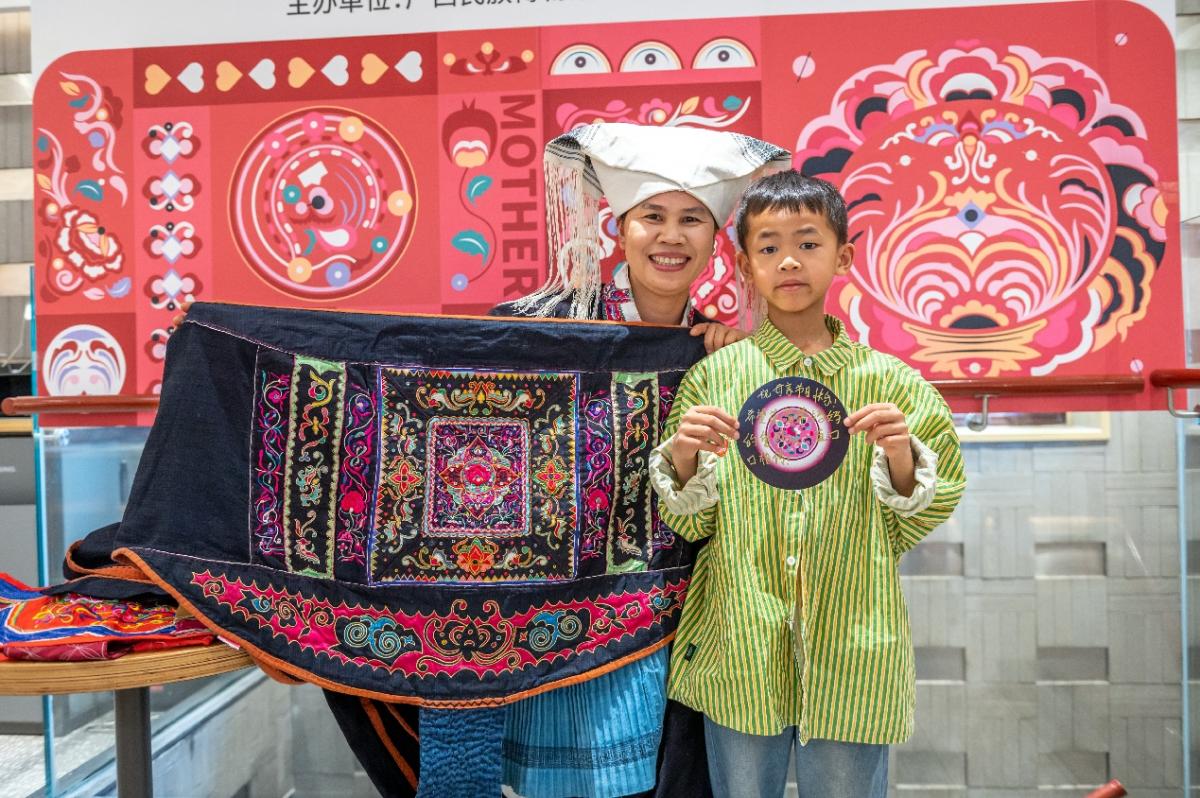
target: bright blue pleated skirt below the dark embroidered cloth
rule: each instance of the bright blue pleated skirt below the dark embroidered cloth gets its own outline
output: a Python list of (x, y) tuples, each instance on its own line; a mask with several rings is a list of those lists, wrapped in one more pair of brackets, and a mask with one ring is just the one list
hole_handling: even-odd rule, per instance
[(654, 788), (667, 702), (666, 648), (611, 673), (518, 701), (504, 784), (524, 798), (617, 798)]

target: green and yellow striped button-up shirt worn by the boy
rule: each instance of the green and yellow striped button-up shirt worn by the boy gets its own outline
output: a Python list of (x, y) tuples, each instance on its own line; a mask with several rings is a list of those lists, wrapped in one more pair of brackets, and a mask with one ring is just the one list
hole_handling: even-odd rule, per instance
[(736, 416), (763, 383), (808, 377), (828, 385), (848, 413), (894, 402), (912, 436), (936, 454), (931, 500), (911, 515), (884, 503), (871, 481), (876, 448), (863, 434), (833, 476), (805, 491), (760, 481), (731, 446), (708, 478), (715, 505), (679, 515), (660, 502), (678, 534), (710, 538), (684, 605), (668, 691), (751, 734), (794, 725), (805, 743), (902, 743), (912, 734), (916, 677), (898, 564), (954, 510), (965, 487), (962, 456), (949, 408), (920, 374), (852, 342), (838, 319), (827, 324), (834, 343), (814, 355), (764, 322), (698, 362), (679, 386), (666, 434), (696, 404)]

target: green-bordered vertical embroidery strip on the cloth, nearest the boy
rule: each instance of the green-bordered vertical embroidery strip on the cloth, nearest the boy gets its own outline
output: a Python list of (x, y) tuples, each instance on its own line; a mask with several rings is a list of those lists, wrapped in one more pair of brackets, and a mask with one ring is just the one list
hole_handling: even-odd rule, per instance
[(659, 431), (658, 374), (612, 376), (617, 452), (608, 527), (608, 572), (644, 571), (650, 559), (650, 449)]

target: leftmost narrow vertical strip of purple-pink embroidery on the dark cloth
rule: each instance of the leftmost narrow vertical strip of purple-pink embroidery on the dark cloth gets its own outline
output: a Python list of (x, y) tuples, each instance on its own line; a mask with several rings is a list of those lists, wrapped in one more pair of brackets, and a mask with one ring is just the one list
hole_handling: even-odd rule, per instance
[(250, 450), (251, 530), (258, 552), (283, 557), (283, 457), (288, 436), (292, 373), (260, 358), (254, 370), (254, 426)]

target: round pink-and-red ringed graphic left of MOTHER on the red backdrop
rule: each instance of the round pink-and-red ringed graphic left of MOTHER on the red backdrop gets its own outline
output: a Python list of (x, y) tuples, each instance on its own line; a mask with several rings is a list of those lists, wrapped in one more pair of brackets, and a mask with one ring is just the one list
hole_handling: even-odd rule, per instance
[(286, 294), (337, 299), (378, 282), (413, 232), (416, 187), (400, 144), (338, 108), (277, 119), (254, 138), (230, 185), (234, 240)]

